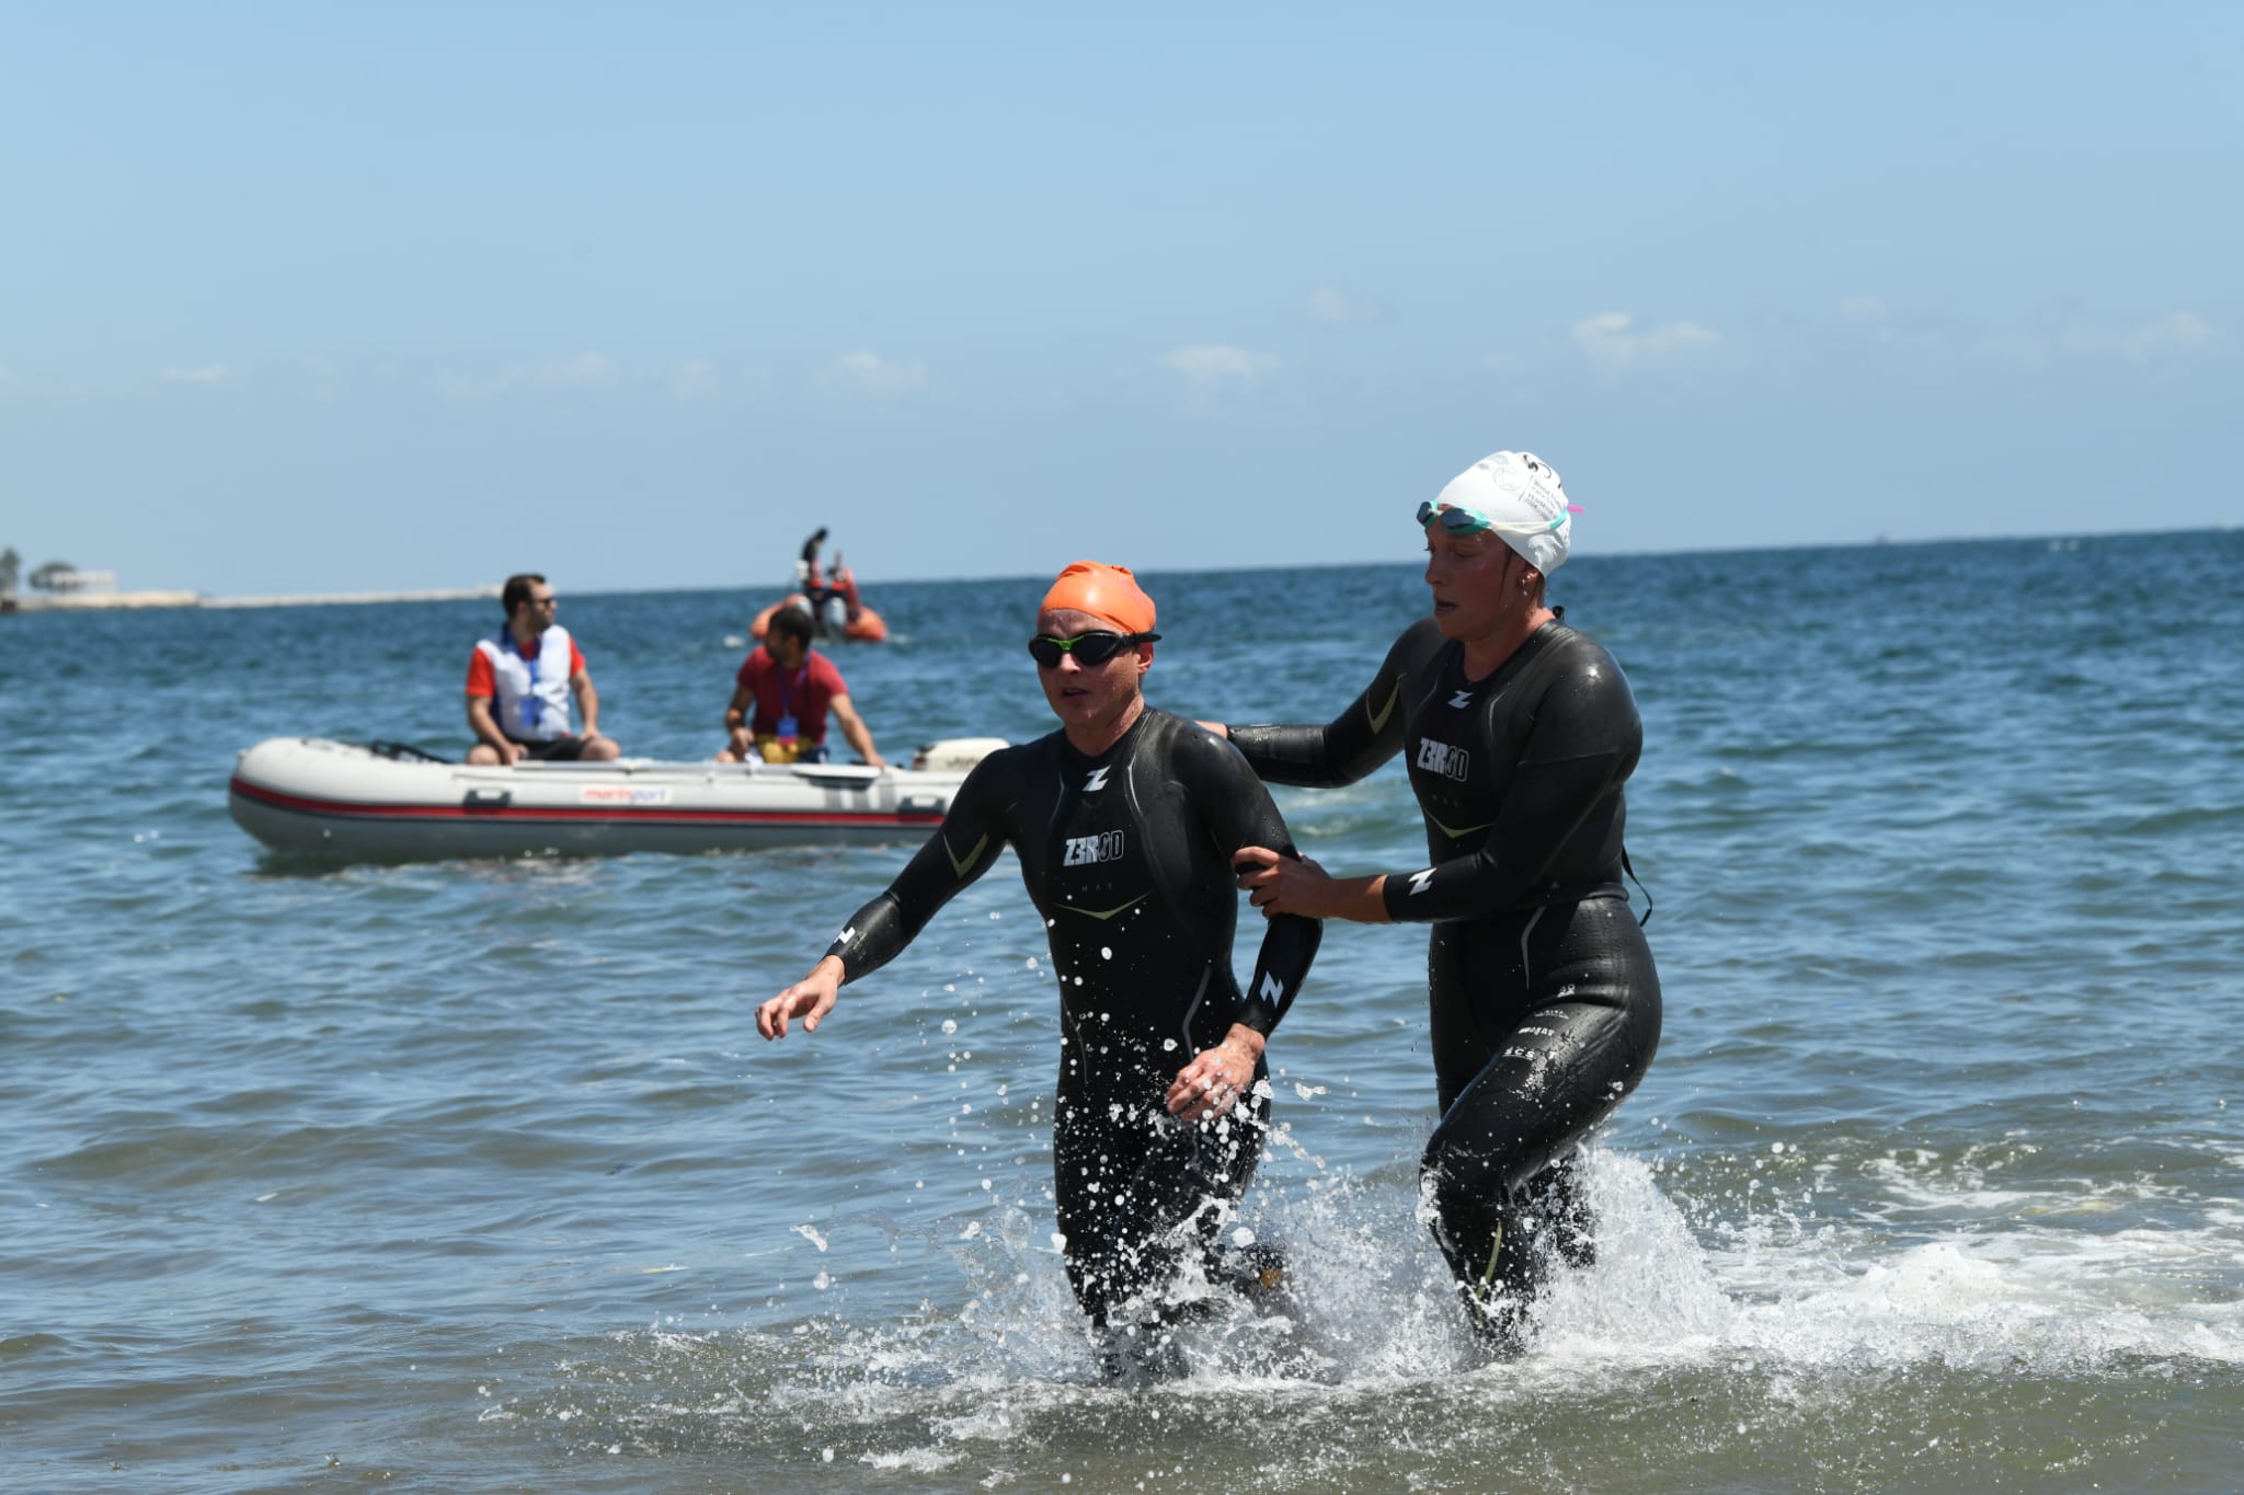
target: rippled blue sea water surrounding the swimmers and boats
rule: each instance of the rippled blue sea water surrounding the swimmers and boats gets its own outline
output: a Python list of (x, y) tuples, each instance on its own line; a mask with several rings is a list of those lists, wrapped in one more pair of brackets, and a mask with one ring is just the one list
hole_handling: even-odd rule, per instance
[[(1569, 565), (1667, 997), (1595, 1266), (1477, 1354), (1423, 930), (1333, 926), (1245, 1208), (1290, 1302), (1151, 1385), (1052, 1246), (1010, 858), (763, 1044), (909, 845), (310, 867), (227, 818), (263, 737), (465, 751), (494, 603), (0, 619), (4, 1484), (2237, 1488), (2237, 576), (2210, 531)], [(554, 583), (624, 751), (714, 753), (770, 596)], [(1151, 702), (1232, 722), (1337, 715), (1423, 610), (1409, 556), (1147, 583)], [(1050, 728), (1041, 585), (866, 578), (884, 753)], [(1400, 764), (1279, 805), (1423, 863)]]

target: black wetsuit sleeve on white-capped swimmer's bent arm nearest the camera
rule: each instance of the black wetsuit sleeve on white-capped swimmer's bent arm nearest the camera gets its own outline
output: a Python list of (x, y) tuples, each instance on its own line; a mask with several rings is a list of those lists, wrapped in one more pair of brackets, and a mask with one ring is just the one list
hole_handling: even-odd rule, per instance
[(1387, 879), (1389, 919), (1479, 919), (1530, 901), (1582, 820), (1636, 769), (1645, 728), (1611, 659), (1578, 663), (1537, 706), (1481, 849)]

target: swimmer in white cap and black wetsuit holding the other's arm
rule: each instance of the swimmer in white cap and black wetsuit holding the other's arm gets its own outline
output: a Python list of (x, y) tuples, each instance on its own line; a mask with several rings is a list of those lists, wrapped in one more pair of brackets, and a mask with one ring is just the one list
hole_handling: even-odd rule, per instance
[(1587, 1264), (1573, 1157), (1652, 1065), (1661, 979), (1622, 885), (1620, 787), (1643, 726), (1604, 646), (1544, 605), (1571, 504), (1528, 453), (1495, 453), (1432, 504), (1434, 614), (1328, 726), (1232, 726), (1279, 784), (1351, 784), (1409, 751), (1429, 865), (1333, 879), (1250, 849), (1266, 914), (1429, 921), (1441, 1123), (1420, 1181), (1474, 1322), (1515, 1347), (1557, 1248)]

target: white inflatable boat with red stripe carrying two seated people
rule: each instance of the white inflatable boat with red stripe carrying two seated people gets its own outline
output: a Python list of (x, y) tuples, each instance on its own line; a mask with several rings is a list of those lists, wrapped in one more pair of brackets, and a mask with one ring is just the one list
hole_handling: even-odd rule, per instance
[(521, 762), (469, 767), (397, 744), (272, 737), (227, 784), (236, 825), (296, 856), (601, 856), (920, 841), (994, 737), (857, 764)]

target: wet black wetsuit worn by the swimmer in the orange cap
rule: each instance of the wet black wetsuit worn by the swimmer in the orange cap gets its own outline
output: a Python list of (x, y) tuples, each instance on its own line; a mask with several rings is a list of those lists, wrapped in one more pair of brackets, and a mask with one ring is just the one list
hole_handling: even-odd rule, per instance
[(1095, 1322), (1214, 1244), (1268, 1130), (1268, 1069), (1192, 1125), (1162, 1101), (1176, 1071), (1243, 1022), (1270, 1033), (1324, 932), (1272, 919), (1245, 991), (1232, 975), (1241, 847), (1293, 852), (1270, 791), (1221, 737), (1147, 708), (1106, 753), (1052, 733), (992, 753), (934, 838), (828, 955), (853, 982), (895, 957), (1005, 847), (1043, 914), (1059, 979), (1052, 1181), (1068, 1280)]

